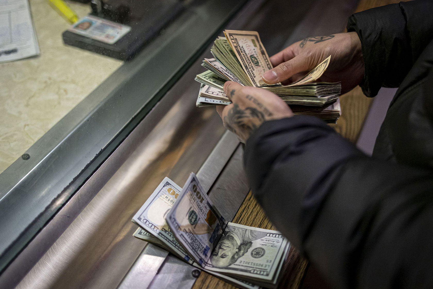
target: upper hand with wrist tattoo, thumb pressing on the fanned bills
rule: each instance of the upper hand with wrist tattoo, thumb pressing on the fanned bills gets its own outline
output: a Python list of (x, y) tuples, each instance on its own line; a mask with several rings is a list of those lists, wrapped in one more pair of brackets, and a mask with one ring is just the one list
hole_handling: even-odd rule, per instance
[(263, 75), (263, 80), (268, 84), (297, 81), (329, 55), (330, 65), (320, 81), (341, 81), (342, 93), (361, 82), (364, 60), (356, 32), (308, 37), (290, 45), (271, 57), (274, 68)]

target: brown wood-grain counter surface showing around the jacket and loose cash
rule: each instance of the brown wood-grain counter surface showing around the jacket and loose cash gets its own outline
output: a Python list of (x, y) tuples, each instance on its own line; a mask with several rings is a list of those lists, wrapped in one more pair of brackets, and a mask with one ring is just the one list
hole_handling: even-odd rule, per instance
[[(356, 12), (364, 11), (370, 8), (383, 6), (391, 3), (398, 3), (395, 0), (360, 0)], [(342, 115), (336, 124), (332, 127), (343, 137), (355, 143), (362, 129), (368, 109), (372, 103), (372, 98), (365, 97), (361, 88), (356, 87), (352, 91), (340, 97)], [(265, 215), (265, 212), (255, 200), (251, 192), (246, 196), (239, 211), (237, 212), (234, 223), (260, 227), (264, 229), (276, 228), (271, 224)], [(298, 289), (301, 287), (302, 280), (308, 267), (308, 261), (304, 259), (296, 248), (292, 247), (283, 272), (278, 288)], [(193, 289), (233, 289), (236, 288), (208, 273), (201, 272)], [(320, 288), (320, 285), (319, 287)]]

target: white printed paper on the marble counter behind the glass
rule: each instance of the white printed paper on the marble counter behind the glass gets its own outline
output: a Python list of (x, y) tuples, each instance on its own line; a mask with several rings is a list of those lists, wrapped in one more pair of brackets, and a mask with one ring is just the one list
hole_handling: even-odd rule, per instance
[(0, 62), (39, 55), (27, 0), (0, 0)]

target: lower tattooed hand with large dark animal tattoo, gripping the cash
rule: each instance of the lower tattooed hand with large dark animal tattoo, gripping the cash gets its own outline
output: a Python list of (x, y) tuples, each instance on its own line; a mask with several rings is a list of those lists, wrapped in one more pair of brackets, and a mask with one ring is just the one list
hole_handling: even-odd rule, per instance
[(223, 119), (224, 126), (236, 133), (243, 143), (263, 122), (293, 116), (291, 109), (280, 97), (262, 88), (227, 81), (224, 91), (232, 104), (219, 105), (216, 111)]

